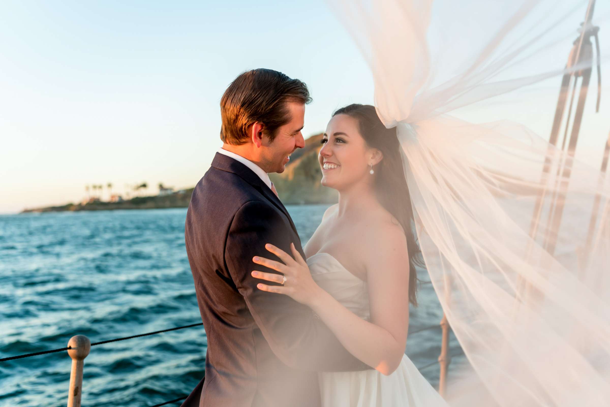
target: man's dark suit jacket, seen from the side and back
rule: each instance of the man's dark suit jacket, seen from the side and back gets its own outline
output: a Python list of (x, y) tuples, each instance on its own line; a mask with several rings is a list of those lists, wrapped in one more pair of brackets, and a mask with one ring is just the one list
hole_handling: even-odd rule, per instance
[[(182, 404), (315, 407), (317, 371), (367, 370), (311, 310), (260, 291), (255, 255), (271, 243), (304, 257), (288, 211), (249, 168), (217, 154), (188, 207), (185, 241), (207, 335), (206, 378)], [(275, 259), (278, 260), (278, 259)]]

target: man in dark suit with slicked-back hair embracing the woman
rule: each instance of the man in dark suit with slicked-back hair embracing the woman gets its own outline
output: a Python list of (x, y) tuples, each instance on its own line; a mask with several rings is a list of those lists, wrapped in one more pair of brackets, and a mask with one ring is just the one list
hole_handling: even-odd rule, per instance
[[(304, 305), (256, 288), (271, 243), (304, 257), (267, 175), (305, 146), (306, 85), (271, 69), (238, 76), (220, 101), (223, 147), (196, 185), (185, 241), (207, 335), (206, 377), (182, 406), (320, 405), (317, 371), (367, 370)], [(276, 259), (279, 260), (279, 259)]]

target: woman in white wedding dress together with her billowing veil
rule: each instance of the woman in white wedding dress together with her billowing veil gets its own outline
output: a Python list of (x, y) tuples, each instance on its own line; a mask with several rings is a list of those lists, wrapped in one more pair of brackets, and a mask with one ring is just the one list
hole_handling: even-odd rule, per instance
[(463, 119), (465, 107), (547, 79), (576, 89), (594, 65), (594, 1), (330, 3), (370, 66), (376, 118), (358, 105), (333, 116), (320, 165), (339, 205), (307, 263), (268, 247), (282, 263), (259, 264), (284, 276), (255, 275), (284, 282), (260, 289), (306, 303), (375, 367), (320, 373), (325, 405), (444, 405), (403, 356), (421, 250), (468, 361), (449, 405), (609, 406), (605, 173), (576, 159), (567, 132), (550, 143), (509, 121), (523, 95), (506, 109), (487, 102), (486, 122)]

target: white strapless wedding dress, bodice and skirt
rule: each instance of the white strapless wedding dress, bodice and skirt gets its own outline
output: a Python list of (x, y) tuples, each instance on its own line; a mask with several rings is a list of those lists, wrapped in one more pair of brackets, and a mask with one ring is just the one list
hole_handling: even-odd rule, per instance
[[(315, 282), (357, 316), (368, 319), (367, 283), (328, 253), (307, 259)], [(406, 292), (405, 292), (405, 295)], [(389, 376), (377, 370), (318, 373), (322, 407), (446, 407), (407, 355)]]

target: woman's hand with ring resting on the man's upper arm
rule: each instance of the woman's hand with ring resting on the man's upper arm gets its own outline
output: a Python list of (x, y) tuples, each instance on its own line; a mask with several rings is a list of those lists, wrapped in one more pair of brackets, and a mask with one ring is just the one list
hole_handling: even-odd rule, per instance
[(301, 253), (296, 250), (295, 245), (293, 243), (290, 244), (292, 256), (284, 252), (284, 250), (273, 246), (273, 244), (265, 244), (265, 249), (276, 255), (283, 263), (260, 256), (253, 258), (254, 263), (278, 271), (281, 274), (253, 271), (252, 276), (254, 278), (260, 278), (260, 280), (272, 281), (273, 283), (278, 283), (280, 285), (259, 283), (256, 285), (257, 288), (262, 291), (285, 294), (293, 300), (307, 306), (314, 304), (323, 290), (311, 277), (307, 262), (301, 256)]

